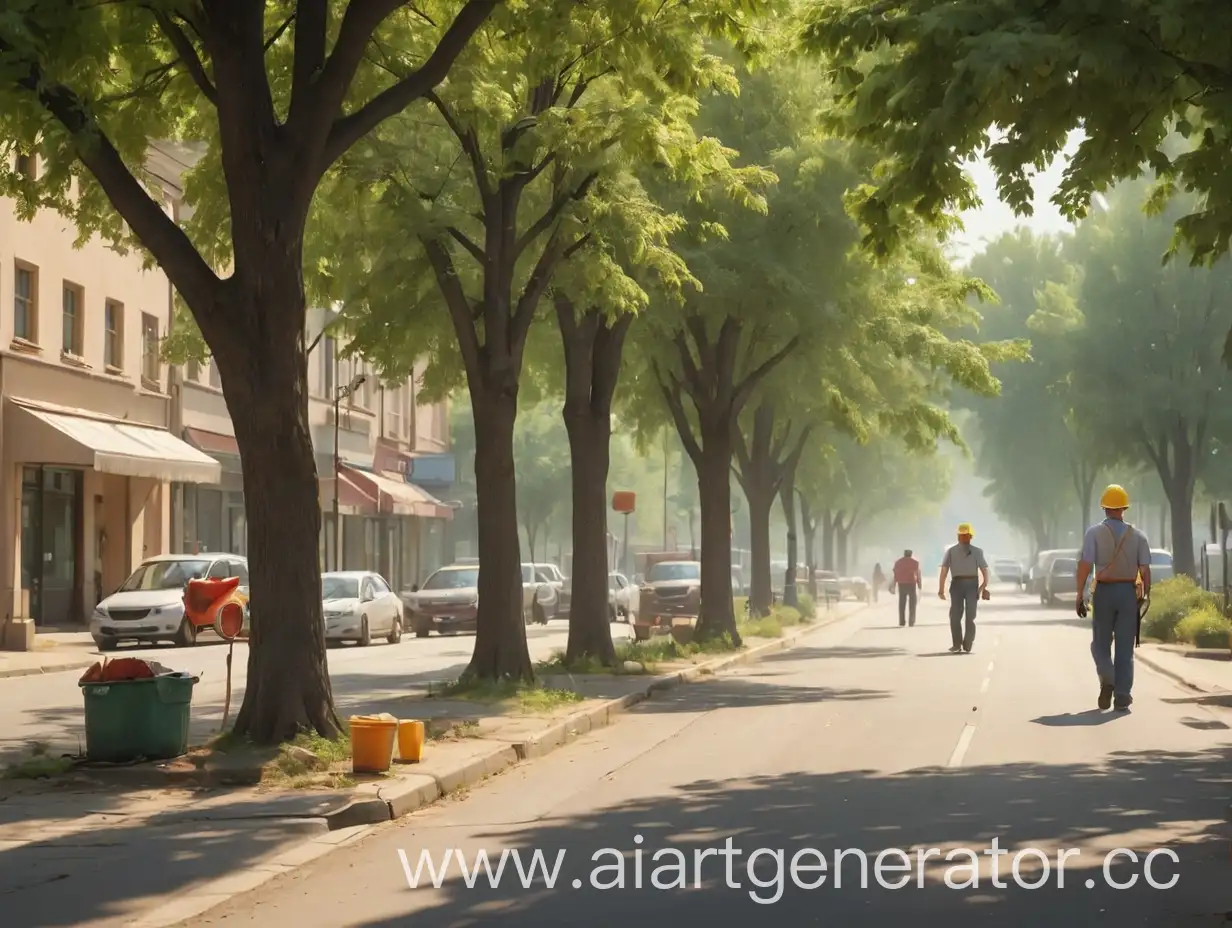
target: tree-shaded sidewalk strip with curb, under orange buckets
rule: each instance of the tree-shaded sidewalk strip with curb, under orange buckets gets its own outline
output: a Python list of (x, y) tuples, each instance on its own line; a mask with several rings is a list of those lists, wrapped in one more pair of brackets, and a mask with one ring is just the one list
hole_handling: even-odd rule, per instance
[[(379, 694), (365, 714), (424, 720), (430, 737), (421, 763), (395, 762), (388, 775), (350, 774), (349, 760), (330, 771), (288, 768), (294, 754), (287, 751), (197, 751), (168, 764), (0, 780), (6, 921), (48, 928), (180, 924), (362, 839), (382, 822), (610, 725), (658, 691), (790, 647), (862, 608), (823, 609), (781, 638), (745, 638), (740, 652), (694, 654), (650, 673), (541, 669), (542, 689), (504, 699), (441, 698), (439, 688), (431, 695)], [(235, 783), (244, 785), (225, 785)]]

